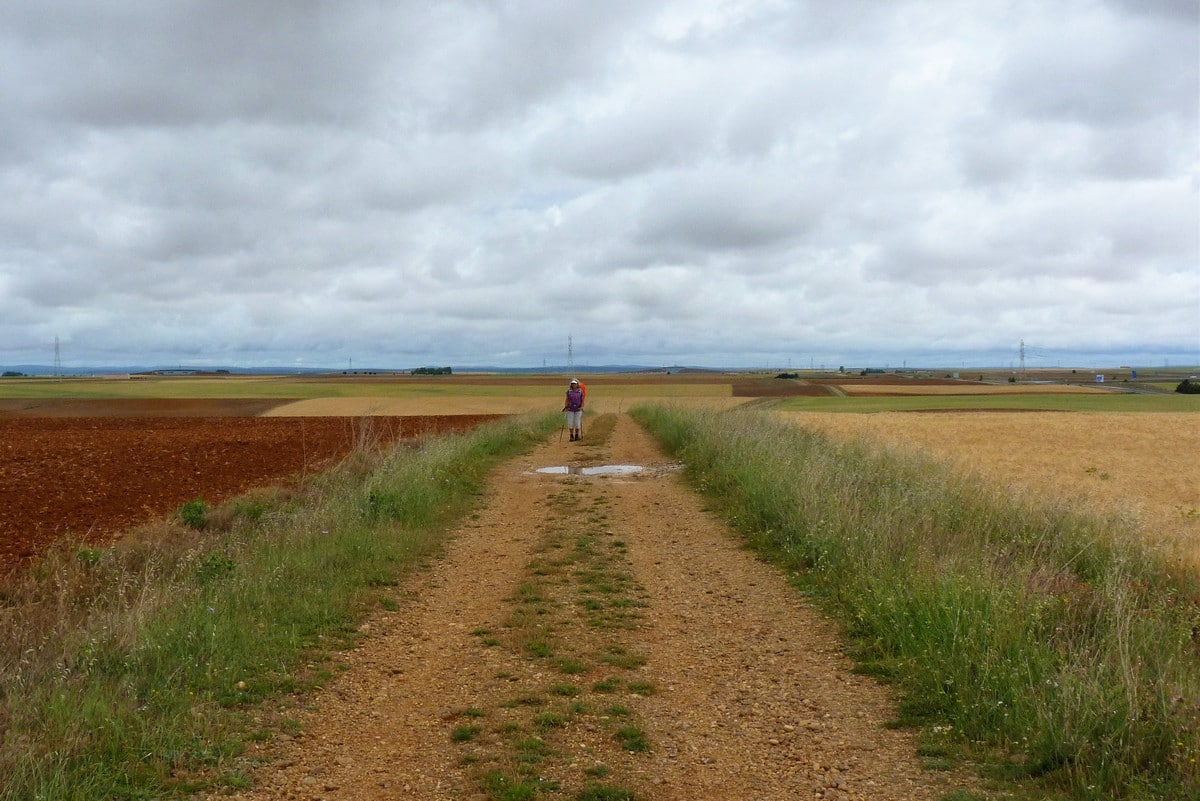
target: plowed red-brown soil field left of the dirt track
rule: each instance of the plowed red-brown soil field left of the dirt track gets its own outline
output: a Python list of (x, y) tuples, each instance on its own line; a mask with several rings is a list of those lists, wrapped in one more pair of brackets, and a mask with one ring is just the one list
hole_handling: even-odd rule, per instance
[[(124, 404), (78, 402), (70, 412), (41, 411), (0, 414), (0, 572), (68, 534), (103, 542), (196, 498), (220, 504), (326, 470), (362, 440), (463, 430), (496, 417), (247, 417), (211, 402), (143, 402), (142, 416), (126, 416)], [(77, 416), (88, 411), (103, 416)], [(206, 416), (180, 416), (197, 411)]]

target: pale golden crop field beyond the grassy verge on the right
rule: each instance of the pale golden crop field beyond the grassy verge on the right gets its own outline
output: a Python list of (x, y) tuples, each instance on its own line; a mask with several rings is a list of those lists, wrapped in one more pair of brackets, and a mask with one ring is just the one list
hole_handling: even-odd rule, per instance
[[(1061, 389), (1061, 387), (1060, 387)], [(917, 447), (964, 470), (1104, 513), (1200, 567), (1200, 415), (1186, 412), (779, 412), (830, 434)]]

